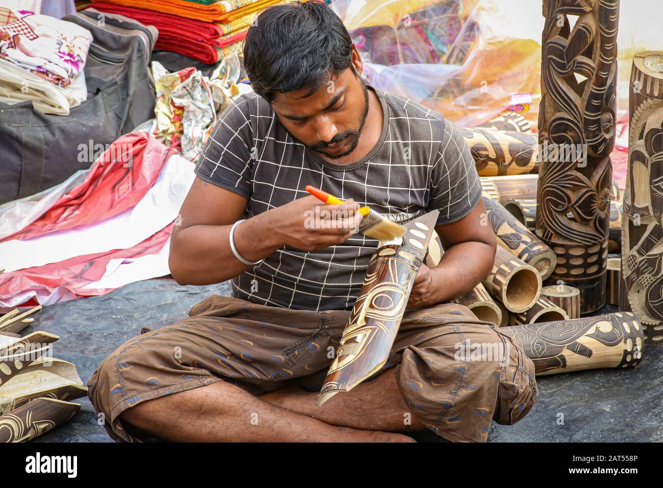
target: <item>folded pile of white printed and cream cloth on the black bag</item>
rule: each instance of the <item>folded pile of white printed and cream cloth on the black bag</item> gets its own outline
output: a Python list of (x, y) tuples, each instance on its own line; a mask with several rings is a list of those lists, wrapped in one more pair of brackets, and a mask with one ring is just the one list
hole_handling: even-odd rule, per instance
[(32, 100), (42, 112), (68, 114), (87, 98), (82, 72), (91, 42), (74, 23), (0, 7), (0, 102)]

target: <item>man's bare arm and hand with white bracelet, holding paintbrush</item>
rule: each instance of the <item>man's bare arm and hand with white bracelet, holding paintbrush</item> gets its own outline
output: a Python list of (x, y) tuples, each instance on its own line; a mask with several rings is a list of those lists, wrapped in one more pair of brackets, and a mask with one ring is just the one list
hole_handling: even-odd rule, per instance
[[(170, 240), (168, 265), (180, 285), (207, 285), (235, 278), (249, 268), (235, 258), (230, 248), (230, 228), (246, 210), (247, 199), (196, 178), (182, 209), (180, 224)], [(307, 210), (348, 210), (344, 226), (305, 228)], [(249, 261), (267, 258), (283, 246), (313, 251), (340, 244), (361, 222), (355, 203), (321, 205), (315, 197), (304, 197), (272, 208), (242, 222), (235, 229), (235, 247)]]

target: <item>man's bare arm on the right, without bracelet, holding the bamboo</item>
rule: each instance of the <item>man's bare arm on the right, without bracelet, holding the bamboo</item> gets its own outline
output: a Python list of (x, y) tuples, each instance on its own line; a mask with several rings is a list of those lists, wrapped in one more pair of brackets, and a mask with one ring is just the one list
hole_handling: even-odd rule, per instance
[(493, 268), (495, 234), (486, 218), (483, 201), (463, 218), (436, 226), (444, 255), (436, 268), (422, 265), (416, 276), (409, 308), (457, 298), (482, 282)]

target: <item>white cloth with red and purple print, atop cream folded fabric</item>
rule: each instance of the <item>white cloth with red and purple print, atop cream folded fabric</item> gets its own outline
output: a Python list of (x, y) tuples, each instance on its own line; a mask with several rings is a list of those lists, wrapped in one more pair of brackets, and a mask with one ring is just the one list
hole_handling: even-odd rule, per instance
[(62, 87), (82, 72), (92, 42), (87, 29), (6, 7), (0, 21), (0, 58)]

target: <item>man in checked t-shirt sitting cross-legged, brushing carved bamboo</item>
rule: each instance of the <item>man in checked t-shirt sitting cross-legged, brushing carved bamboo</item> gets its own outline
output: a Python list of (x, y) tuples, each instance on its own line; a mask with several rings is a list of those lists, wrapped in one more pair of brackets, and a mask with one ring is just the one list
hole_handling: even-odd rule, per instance
[[(532, 362), (495, 325), (447, 303), (481, 282), (495, 256), (460, 133), (440, 114), (367, 86), (347, 30), (323, 3), (266, 9), (244, 57), (255, 93), (211, 132), (170, 245), (178, 283), (232, 280), (233, 297), (208, 297), (189, 318), (103, 361), (90, 398), (111, 436), (408, 442), (398, 432), (430, 429), (485, 441), (492, 420), (520, 420), (536, 401)], [(308, 184), (345, 203), (320, 203)], [(445, 253), (418, 272), (387, 364), (318, 407), (330, 351), (378, 244), (353, 232), (360, 204), (397, 222), (439, 210)], [(320, 210), (347, 218), (308, 224)], [(507, 357), (458, 357), (468, 342), (507, 346)]]

